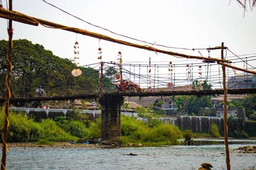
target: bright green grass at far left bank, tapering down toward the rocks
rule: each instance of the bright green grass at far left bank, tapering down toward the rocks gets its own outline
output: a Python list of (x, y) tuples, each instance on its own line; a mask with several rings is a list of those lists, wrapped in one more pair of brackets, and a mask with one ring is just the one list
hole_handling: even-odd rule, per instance
[[(4, 111), (0, 108), (0, 129), (3, 131)], [(34, 122), (26, 116), (18, 113), (9, 113), (8, 142), (37, 142), (40, 139), (48, 141), (62, 142), (66, 139), (79, 139), (61, 129), (56, 122), (51, 119), (42, 120), (40, 123)], [(2, 139), (0, 139), (2, 142)]]

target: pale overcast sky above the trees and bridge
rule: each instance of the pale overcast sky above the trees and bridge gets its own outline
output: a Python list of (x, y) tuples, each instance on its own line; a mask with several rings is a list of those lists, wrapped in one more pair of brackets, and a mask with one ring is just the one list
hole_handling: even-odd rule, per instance
[[(254, 54), (256, 11), (245, 12), (236, 0), (46, 0), (94, 25), (135, 39), (177, 48), (228, 47), (236, 55)], [(230, 3), (230, 5), (229, 5)], [(6, 8), (6, 1), (3, 0)], [(77, 27), (104, 34), (119, 40), (148, 45), (112, 34), (84, 23), (45, 3), (43, 0), (13, 0), (13, 10), (64, 26)], [(256, 10), (256, 9), (254, 9)], [(29, 26), (13, 22), (13, 39), (27, 39), (38, 43), (62, 58), (74, 57), (76, 34), (44, 26)], [(7, 20), (0, 18), (0, 40), (8, 40)], [(99, 62), (98, 48), (102, 48), (102, 61), (117, 61), (122, 52), (124, 63), (155, 61), (188, 61), (143, 49), (119, 45), (84, 35), (77, 35), (80, 65)], [(166, 51), (199, 56), (198, 50), (181, 50), (153, 46)], [(200, 50), (208, 57), (207, 50)], [(221, 51), (211, 51), (210, 57), (220, 58)], [(233, 56), (227, 52), (227, 57)], [(179, 63), (180, 63), (179, 62)], [(256, 62), (251, 62), (256, 66)], [(236, 65), (241, 66), (242, 65)]]

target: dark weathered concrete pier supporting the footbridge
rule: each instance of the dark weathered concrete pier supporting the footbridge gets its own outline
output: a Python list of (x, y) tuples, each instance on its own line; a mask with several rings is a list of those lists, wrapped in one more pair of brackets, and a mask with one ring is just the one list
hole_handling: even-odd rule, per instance
[(121, 143), (121, 106), (123, 96), (102, 95), (99, 103), (102, 105), (101, 138)]

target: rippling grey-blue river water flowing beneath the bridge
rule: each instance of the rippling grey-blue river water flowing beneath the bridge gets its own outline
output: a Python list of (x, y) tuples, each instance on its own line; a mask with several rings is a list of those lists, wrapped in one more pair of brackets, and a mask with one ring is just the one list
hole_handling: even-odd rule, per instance
[[(233, 150), (247, 145), (256, 145), (256, 139), (229, 140), (231, 170), (256, 170), (256, 153)], [(224, 153), (224, 140), (212, 139), (196, 139), (193, 146), (9, 147), (6, 170), (198, 170), (204, 162), (212, 164), (212, 170), (225, 170)]]

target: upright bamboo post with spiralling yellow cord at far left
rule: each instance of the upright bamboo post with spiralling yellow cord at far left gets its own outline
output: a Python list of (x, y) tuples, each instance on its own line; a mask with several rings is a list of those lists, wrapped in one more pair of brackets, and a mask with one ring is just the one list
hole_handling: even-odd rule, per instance
[[(12, 11), (12, 0), (9, 0), (9, 10)], [(6, 165), (6, 155), (7, 155), (7, 133), (8, 133), (8, 126), (9, 126), (9, 102), (11, 97), (11, 71), (12, 71), (12, 20), (9, 20), (9, 28), (8, 28), (8, 35), (9, 35), (9, 44), (8, 44), (8, 53), (7, 53), (7, 75), (6, 75), (6, 97), (5, 97), (5, 105), (4, 105), (4, 127), (3, 127), (3, 153), (1, 158), (1, 170), (5, 170)]]

